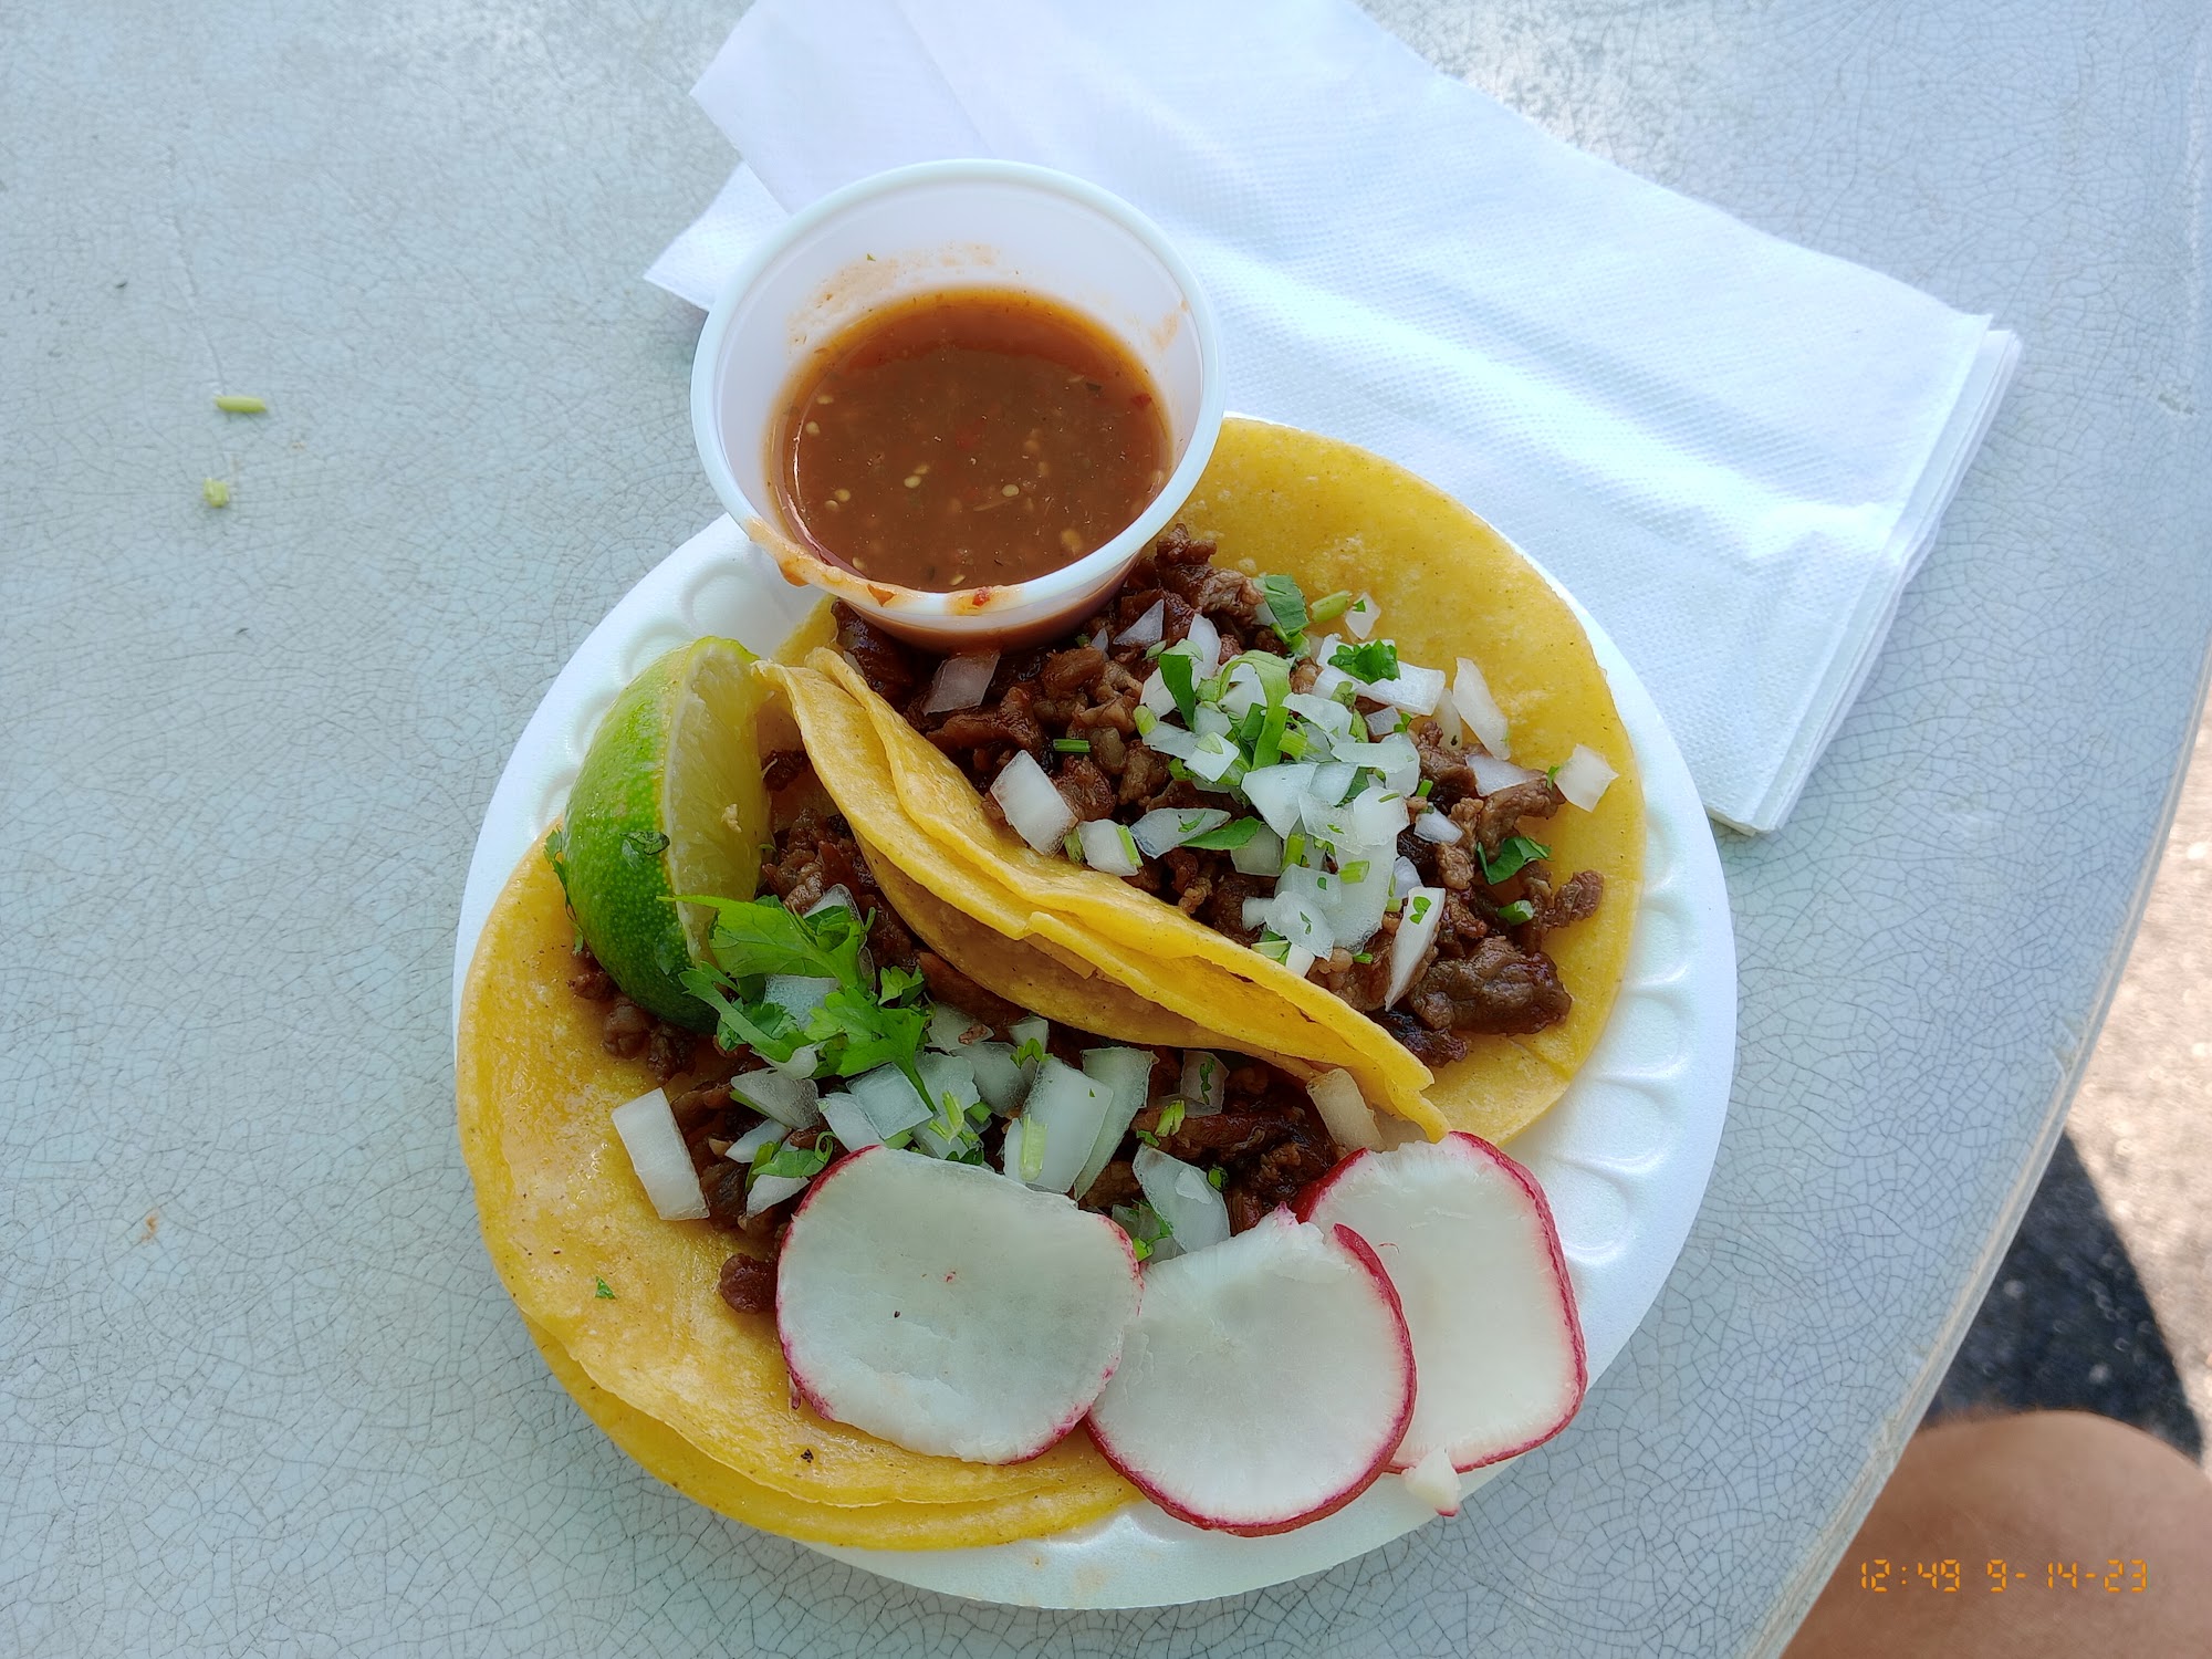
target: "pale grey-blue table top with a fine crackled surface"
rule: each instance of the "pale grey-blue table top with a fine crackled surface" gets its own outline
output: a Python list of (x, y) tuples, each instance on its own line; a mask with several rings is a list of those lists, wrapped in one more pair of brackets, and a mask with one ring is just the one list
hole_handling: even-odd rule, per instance
[(686, 88), (732, 20), (0, 11), (0, 1648), (1772, 1652), (2033, 1188), (2183, 757), (2203, 7), (1383, 7), (2026, 358), (1796, 818), (1723, 838), (1728, 1137), (1582, 1418), (1453, 1524), (1128, 1615), (902, 1590), (655, 1486), (476, 1237), (456, 900), (546, 681), (717, 511), (699, 319), (637, 272), (728, 168)]

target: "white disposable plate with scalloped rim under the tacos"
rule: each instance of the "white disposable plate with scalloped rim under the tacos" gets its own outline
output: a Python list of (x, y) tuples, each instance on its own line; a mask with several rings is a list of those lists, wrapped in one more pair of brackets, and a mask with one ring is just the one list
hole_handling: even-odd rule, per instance
[[(453, 1026), (484, 916), (515, 860), (560, 816), (599, 717), (664, 650), (728, 635), (774, 650), (812, 604), (728, 520), (714, 520), (630, 588), (546, 692), (491, 794), (453, 945)], [(1544, 1183), (1575, 1279), (1590, 1380), (1659, 1296), (1705, 1194), (1736, 1053), (1736, 947), (1712, 832), (1674, 739), (1613, 641), (1588, 619), (1644, 768), (1644, 905), (1613, 1020), (1566, 1099), (1513, 1141)], [(1573, 1425), (1566, 1433), (1573, 1433)], [(1467, 1491), (1498, 1469), (1464, 1478)], [(1168, 1606), (1237, 1595), (1347, 1562), (1436, 1513), (1385, 1475), (1327, 1520), (1228, 1537), (1133, 1504), (1053, 1537), (964, 1551), (823, 1555), (902, 1584), (1053, 1608)]]

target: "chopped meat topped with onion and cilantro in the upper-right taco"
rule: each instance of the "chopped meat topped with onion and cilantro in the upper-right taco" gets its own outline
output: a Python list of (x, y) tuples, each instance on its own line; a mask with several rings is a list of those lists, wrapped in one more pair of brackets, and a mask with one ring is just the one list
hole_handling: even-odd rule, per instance
[[(940, 659), (845, 606), (838, 648), (1040, 852), (1274, 956), (1429, 1066), (1564, 1020), (1544, 938), (1597, 911), (1604, 876), (1555, 878), (1531, 838), (1566, 805), (1551, 776), (1462, 737), (1458, 692), (1391, 641), (1310, 639), (1349, 595), (1310, 608), (1212, 557), (1177, 524), (1073, 639), (1000, 655), (971, 708), (931, 710)], [(993, 790), (1015, 757), (1064, 814)], [(1108, 818), (1121, 845), (1077, 834)]]

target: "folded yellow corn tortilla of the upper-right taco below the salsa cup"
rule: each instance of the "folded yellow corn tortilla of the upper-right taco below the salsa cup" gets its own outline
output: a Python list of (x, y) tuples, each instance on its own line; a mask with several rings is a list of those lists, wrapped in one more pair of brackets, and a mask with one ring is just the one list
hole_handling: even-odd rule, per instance
[[(1557, 765), (1582, 743), (1615, 768), (1619, 776), (1595, 812), (1562, 807), (1540, 832), (1555, 872), (1595, 869), (1606, 878), (1599, 911), (1546, 940), (1575, 998), (1564, 1022), (1524, 1037), (1473, 1035), (1469, 1055), (1431, 1079), (1380, 1024), (1279, 962), (1128, 883), (1037, 854), (982, 810), (967, 776), (876, 697), (849, 661), (818, 648), (807, 666), (834, 677), (865, 708), (898, 803), (916, 825), (1018, 905), (1064, 918), (1077, 938), (1104, 940), (1124, 960), (1133, 956), (1137, 975), (1126, 984), (1141, 995), (1170, 1009), (1183, 1002), (1208, 1009), (1199, 1018), (1232, 1042), (1279, 1053), (1312, 1053), (1281, 1040), (1285, 1020), (1325, 1026), (1338, 1057), (1314, 1057), (1349, 1068), (1369, 1102), (1425, 1126), (1440, 1113), (1451, 1128), (1493, 1141), (1511, 1137), (1566, 1093), (1597, 1044), (1628, 964), (1641, 896), (1637, 759), (1582, 624), (1535, 566), (1440, 489), (1310, 431), (1225, 422), (1181, 520), (1214, 542), (1221, 564), (1296, 577), (1307, 595), (1338, 588), (1374, 595), (1378, 633), (1396, 639), (1407, 661), (1449, 677), (1458, 657), (1473, 659), (1511, 723), (1515, 761)], [(1033, 920), (1031, 931), (1042, 936), (1046, 927)], [(1071, 947), (1099, 960), (1079, 942)]]

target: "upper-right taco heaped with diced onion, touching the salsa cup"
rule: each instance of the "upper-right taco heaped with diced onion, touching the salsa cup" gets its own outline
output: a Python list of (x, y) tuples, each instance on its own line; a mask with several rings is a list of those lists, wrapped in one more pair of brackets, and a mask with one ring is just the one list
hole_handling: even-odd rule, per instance
[(1046, 646), (940, 659), (841, 611), (794, 708), (858, 706), (858, 765), (1057, 960), (1506, 1139), (1635, 929), (1644, 801), (1588, 637), (1480, 518), (1314, 434), (1225, 422), (1181, 520)]

